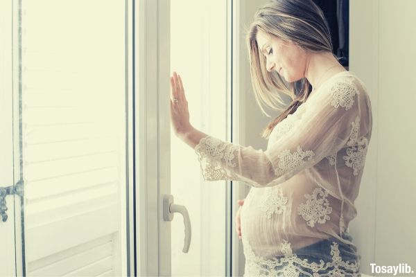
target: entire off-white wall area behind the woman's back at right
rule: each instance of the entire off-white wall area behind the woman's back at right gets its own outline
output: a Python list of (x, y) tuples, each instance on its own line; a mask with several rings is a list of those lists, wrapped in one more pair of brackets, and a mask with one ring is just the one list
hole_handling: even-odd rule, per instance
[(352, 228), (363, 271), (407, 262), (416, 271), (416, 1), (352, 1), (350, 62), (370, 90), (374, 141)]

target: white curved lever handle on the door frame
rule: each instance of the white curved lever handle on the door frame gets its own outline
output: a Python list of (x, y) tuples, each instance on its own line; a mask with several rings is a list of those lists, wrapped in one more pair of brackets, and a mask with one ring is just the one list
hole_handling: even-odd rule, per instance
[(163, 219), (164, 221), (172, 221), (174, 213), (180, 213), (184, 217), (185, 240), (184, 249), (182, 252), (188, 253), (191, 245), (191, 220), (189, 220), (189, 213), (185, 206), (173, 204), (173, 195), (163, 196)]

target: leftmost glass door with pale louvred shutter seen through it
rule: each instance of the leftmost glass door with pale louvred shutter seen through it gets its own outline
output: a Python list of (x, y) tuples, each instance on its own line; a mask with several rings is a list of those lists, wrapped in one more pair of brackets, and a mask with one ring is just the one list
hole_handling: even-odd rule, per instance
[(8, 154), (1, 172), (11, 175), (2, 175), (0, 186), (11, 176), (24, 188), (6, 222), (16, 221), (17, 274), (131, 274), (131, 3), (5, 2), (12, 12), (12, 89), (2, 91), (10, 106), (1, 109), (9, 116), (1, 114), (0, 123), (8, 134), (14, 128), (15, 151), (10, 163), (12, 141), (1, 136)]

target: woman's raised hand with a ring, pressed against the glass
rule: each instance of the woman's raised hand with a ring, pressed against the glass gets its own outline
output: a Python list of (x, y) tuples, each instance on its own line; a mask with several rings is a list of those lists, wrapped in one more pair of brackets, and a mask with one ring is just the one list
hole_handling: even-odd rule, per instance
[(171, 123), (176, 136), (184, 136), (193, 128), (189, 123), (188, 101), (182, 80), (176, 72), (171, 76)]

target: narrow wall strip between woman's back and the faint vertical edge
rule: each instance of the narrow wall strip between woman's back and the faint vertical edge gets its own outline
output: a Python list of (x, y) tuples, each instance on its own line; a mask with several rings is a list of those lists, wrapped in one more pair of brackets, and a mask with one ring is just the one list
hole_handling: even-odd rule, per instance
[(357, 217), (349, 230), (361, 255), (361, 270), (370, 274), (370, 262), (375, 256), (376, 230), (376, 162), (379, 143), (378, 95), (379, 51), (377, 47), (378, 1), (350, 1), (349, 4), (349, 70), (365, 83), (370, 95), (373, 113), (372, 138), (367, 152), (360, 193), (356, 199)]

